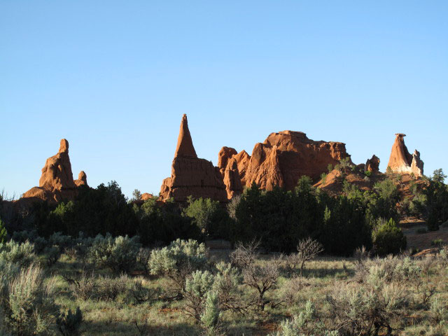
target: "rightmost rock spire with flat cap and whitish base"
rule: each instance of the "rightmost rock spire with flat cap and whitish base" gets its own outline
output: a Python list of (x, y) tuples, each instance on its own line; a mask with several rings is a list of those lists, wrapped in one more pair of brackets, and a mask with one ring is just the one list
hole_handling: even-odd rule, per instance
[(423, 176), (423, 161), (420, 159), (420, 153), (415, 150), (414, 154), (411, 155), (407, 151), (404, 137), (406, 137), (406, 134), (395, 134), (395, 141), (387, 166), (391, 168), (392, 172)]

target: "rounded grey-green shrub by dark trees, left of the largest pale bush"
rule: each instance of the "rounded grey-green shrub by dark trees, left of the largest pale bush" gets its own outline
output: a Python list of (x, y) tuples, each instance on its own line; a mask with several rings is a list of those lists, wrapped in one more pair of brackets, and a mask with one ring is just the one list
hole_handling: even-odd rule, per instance
[(128, 236), (105, 237), (97, 235), (89, 248), (90, 258), (102, 267), (109, 267), (113, 272), (130, 272), (137, 262), (139, 253), (139, 237)]

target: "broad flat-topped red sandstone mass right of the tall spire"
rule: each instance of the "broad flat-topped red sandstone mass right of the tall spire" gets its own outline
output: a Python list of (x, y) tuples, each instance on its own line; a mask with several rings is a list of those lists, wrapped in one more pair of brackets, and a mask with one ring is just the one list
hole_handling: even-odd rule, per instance
[[(221, 156), (225, 156), (223, 149)], [(241, 151), (231, 158), (237, 162), (233, 172), (239, 175), (243, 186), (255, 182), (265, 190), (272, 190), (274, 186), (293, 190), (300, 176), (307, 175), (316, 181), (328, 171), (328, 165), (334, 167), (339, 160), (349, 157), (341, 142), (314, 141), (302, 132), (283, 131), (271, 133), (263, 143), (255, 144), (251, 156)], [(229, 162), (230, 158), (226, 160), (221, 162)], [(224, 166), (219, 167), (222, 171)], [(225, 167), (231, 169), (229, 165)], [(234, 187), (228, 185), (226, 179), (225, 183), (229, 194)]]

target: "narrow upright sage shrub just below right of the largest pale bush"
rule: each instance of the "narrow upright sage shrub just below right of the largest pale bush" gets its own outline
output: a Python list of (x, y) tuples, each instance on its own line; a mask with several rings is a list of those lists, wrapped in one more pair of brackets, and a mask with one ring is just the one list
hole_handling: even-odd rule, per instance
[(184, 297), (186, 300), (186, 313), (195, 321), (200, 322), (204, 311), (206, 294), (211, 290), (214, 276), (209, 271), (197, 270), (186, 279)]

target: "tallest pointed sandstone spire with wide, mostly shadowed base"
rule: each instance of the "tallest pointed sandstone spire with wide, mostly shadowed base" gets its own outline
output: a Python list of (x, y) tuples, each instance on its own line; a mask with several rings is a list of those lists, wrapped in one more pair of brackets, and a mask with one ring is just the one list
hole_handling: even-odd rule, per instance
[(211, 198), (219, 202), (228, 200), (219, 168), (214, 167), (208, 160), (197, 158), (188, 130), (187, 116), (184, 114), (171, 177), (163, 180), (160, 197), (162, 200), (173, 197), (176, 202), (186, 202), (190, 195), (195, 198)]

